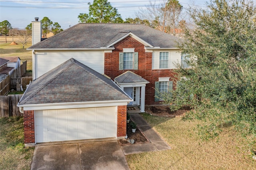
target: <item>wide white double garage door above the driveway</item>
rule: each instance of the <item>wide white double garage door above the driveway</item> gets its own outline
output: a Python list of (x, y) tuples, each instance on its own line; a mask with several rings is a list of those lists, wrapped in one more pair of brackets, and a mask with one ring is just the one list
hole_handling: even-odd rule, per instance
[(116, 107), (36, 111), (36, 142), (116, 137)]

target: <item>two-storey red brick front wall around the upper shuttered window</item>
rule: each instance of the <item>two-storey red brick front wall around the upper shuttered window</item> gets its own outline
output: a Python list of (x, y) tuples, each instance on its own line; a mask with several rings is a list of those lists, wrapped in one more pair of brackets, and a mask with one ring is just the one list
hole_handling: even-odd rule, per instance
[[(114, 79), (118, 75), (128, 71), (119, 70), (119, 52), (123, 52), (123, 48), (134, 48), (138, 52), (138, 70), (130, 70), (150, 83), (146, 84), (145, 104), (159, 104), (154, 101), (155, 81), (159, 77), (171, 77), (170, 81), (175, 80), (175, 73), (171, 69), (152, 70), (152, 52), (145, 52), (144, 45), (134, 38), (128, 36), (114, 45), (115, 49), (112, 53), (105, 53), (104, 73)], [(174, 84), (175, 81), (174, 81)]]

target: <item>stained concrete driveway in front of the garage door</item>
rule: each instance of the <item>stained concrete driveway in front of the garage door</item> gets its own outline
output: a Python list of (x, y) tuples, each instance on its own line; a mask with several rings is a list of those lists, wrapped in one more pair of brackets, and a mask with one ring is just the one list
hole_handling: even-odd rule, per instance
[(129, 170), (117, 141), (36, 146), (31, 170)]

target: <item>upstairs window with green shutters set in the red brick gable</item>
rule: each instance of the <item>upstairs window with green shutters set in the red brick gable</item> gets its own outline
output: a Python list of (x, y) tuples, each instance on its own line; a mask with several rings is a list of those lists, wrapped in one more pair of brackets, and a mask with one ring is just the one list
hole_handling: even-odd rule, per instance
[(138, 69), (138, 52), (120, 52), (119, 70)]

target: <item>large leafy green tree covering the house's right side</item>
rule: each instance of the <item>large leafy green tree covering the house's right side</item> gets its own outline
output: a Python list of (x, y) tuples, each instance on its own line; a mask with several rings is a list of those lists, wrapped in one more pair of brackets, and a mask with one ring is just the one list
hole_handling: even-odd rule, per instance
[(206, 121), (200, 132), (208, 137), (227, 123), (256, 137), (256, 6), (214, 0), (190, 13), (196, 26), (185, 31), (180, 49), (191, 68), (177, 65), (176, 90), (162, 98), (172, 110), (193, 107), (186, 119)]

